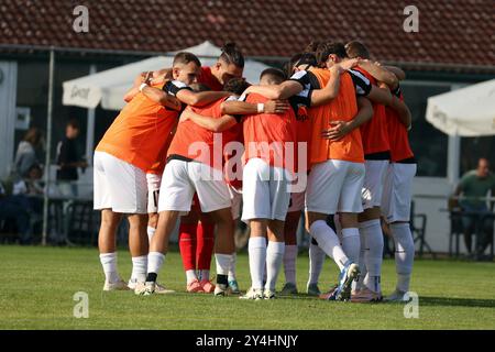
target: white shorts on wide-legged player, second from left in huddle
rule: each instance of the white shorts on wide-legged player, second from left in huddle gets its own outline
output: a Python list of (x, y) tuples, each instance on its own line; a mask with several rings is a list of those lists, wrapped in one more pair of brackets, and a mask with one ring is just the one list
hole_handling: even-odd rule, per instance
[(158, 211), (190, 211), (195, 193), (202, 212), (231, 207), (222, 170), (198, 162), (169, 161), (160, 187)]

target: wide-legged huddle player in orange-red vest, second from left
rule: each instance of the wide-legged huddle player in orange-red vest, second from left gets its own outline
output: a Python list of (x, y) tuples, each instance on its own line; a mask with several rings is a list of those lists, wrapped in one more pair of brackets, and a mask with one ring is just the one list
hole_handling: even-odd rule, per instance
[[(241, 81), (242, 84), (231, 85), (229, 90), (235, 94), (245, 89), (245, 81)], [(204, 108), (195, 108), (195, 110), (199, 114), (220, 119), (224, 100), (226, 97), (222, 97)], [(183, 116), (186, 113), (187, 110)], [(155, 293), (156, 277), (165, 260), (168, 238), (179, 213), (190, 210), (195, 193), (198, 195), (201, 211), (209, 213), (218, 229), (215, 294), (224, 295), (228, 288), (228, 271), (234, 251), (233, 227), (231, 199), (223, 180), (223, 155), (220, 153), (218, 156), (218, 148), (223, 150), (223, 142), (229, 141), (234, 131), (227, 130), (215, 134), (194, 121), (184, 120), (177, 125), (174, 140), (168, 148), (167, 164), (160, 191), (158, 227), (150, 246), (146, 282), (139, 284), (135, 288), (135, 293), (139, 295)], [(222, 143), (219, 142), (219, 139)]]

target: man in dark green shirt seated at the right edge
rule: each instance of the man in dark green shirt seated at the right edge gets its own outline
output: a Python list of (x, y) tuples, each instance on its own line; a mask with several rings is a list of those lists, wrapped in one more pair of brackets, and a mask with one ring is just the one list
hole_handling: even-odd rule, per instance
[[(476, 232), (476, 223), (481, 218), (490, 212), (487, 199), (488, 190), (492, 191), (492, 197), (495, 196), (495, 175), (490, 170), (488, 160), (482, 157), (477, 162), (477, 168), (465, 173), (458, 187), (455, 188), (454, 197), (459, 197), (459, 201), (454, 199), (454, 206), (459, 206), (462, 211), (470, 213), (477, 213), (477, 216), (462, 217), (462, 226), (464, 230), (464, 244), (468, 252), (472, 253), (472, 233)], [(493, 208), (493, 201), (490, 202)], [(483, 224), (483, 231), (480, 231), (480, 238), (476, 241), (477, 254), (483, 254), (493, 235), (492, 222), (487, 221)]]

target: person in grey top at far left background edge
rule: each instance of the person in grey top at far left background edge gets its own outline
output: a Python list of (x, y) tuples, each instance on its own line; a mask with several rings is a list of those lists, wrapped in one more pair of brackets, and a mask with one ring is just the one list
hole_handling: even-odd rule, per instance
[(14, 174), (16, 177), (25, 177), (31, 166), (38, 164), (36, 150), (41, 144), (42, 133), (40, 129), (29, 129), (15, 152)]

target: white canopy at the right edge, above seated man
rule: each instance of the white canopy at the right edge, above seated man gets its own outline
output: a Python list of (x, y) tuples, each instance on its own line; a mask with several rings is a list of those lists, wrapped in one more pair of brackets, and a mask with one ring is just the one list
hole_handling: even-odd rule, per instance
[(495, 79), (429, 98), (426, 119), (449, 135), (494, 135)]

